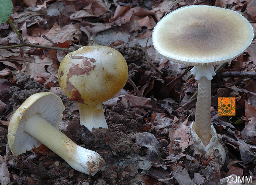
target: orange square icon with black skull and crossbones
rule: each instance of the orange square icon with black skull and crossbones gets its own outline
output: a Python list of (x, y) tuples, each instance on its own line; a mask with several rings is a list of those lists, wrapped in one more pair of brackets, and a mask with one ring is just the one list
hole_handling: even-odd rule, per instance
[[(219, 98), (218, 115), (219, 116), (234, 116), (236, 115), (235, 98)], [(218, 99), (218, 100), (219, 100)], [(234, 106), (233, 106), (234, 105)]]

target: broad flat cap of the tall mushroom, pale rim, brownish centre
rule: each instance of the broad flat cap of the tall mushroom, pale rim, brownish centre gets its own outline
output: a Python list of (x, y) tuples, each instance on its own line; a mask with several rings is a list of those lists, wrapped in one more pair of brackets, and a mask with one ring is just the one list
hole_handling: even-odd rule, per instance
[(155, 26), (153, 44), (163, 57), (185, 65), (233, 60), (253, 40), (253, 28), (236, 11), (191, 5), (167, 14)]

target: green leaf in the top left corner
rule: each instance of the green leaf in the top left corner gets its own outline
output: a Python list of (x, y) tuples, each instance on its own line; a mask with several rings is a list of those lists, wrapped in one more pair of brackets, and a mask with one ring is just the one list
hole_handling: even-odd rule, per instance
[(0, 23), (5, 23), (12, 15), (12, 1), (11, 0), (0, 0)]

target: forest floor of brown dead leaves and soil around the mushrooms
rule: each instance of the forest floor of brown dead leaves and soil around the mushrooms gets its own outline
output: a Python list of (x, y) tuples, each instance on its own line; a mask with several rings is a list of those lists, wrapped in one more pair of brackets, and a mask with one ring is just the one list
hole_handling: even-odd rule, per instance
[[(256, 184), (256, 80), (248, 75), (256, 72), (256, 41), (212, 80), (211, 122), (225, 146), (225, 163), (192, 155), (189, 130), (196, 98), (189, 99), (198, 82), (192, 67), (166, 60), (154, 49), (150, 33), (155, 24), (166, 12), (193, 3), (237, 11), (256, 29), (255, 0), (13, 0), (11, 20), (26, 43), (117, 49), (142, 97), (127, 82), (103, 103), (109, 128), (90, 132), (79, 124), (77, 103), (59, 86), (58, 68), (68, 52), (0, 49), (1, 184), (218, 185), (231, 174), (252, 177), (247, 184)], [(148, 37), (148, 57), (156, 68), (147, 63)], [(0, 47), (16, 44), (20, 40), (10, 24), (1, 24)], [(105, 159), (94, 176), (72, 169), (44, 145), (18, 156), (11, 153), (7, 132), (12, 114), (30, 95), (45, 91), (59, 95), (65, 105), (59, 130)], [(218, 97), (236, 98), (236, 116), (218, 116)]]

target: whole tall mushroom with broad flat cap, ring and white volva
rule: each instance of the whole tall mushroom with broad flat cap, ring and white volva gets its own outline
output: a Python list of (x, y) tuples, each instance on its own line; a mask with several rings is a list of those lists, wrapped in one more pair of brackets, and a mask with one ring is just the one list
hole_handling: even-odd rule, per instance
[(194, 66), (191, 73), (199, 80), (192, 123), (194, 144), (208, 155), (215, 146), (225, 160), (225, 150), (210, 122), (211, 79), (216, 75), (213, 65), (229, 62), (248, 48), (253, 40), (251, 24), (236, 11), (191, 5), (163, 17), (154, 28), (152, 40), (163, 57)]

